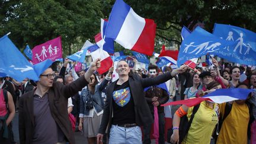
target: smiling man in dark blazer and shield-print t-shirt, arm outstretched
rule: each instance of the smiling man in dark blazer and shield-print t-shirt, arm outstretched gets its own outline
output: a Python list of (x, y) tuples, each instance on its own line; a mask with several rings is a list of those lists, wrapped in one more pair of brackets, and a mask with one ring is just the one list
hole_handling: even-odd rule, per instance
[(129, 76), (128, 63), (120, 60), (116, 69), (119, 79), (108, 85), (106, 90), (107, 101), (105, 101), (97, 142), (103, 142), (108, 126), (109, 143), (142, 143), (140, 126), (153, 122), (143, 89), (161, 84), (185, 69), (187, 66), (155, 78), (142, 79), (138, 75)]

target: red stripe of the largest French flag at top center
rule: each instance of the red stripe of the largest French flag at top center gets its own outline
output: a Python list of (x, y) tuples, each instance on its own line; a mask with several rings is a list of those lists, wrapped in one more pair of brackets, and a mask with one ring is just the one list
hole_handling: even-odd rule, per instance
[(156, 24), (153, 20), (146, 19), (145, 27), (142, 30), (142, 33), (139, 36), (139, 39), (132, 47), (132, 50), (138, 53), (143, 53), (148, 56), (152, 56), (154, 46), (155, 46), (155, 33), (156, 33)]

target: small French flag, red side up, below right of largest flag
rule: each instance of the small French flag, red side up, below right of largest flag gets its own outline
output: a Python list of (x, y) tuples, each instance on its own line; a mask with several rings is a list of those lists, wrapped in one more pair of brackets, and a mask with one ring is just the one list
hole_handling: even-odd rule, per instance
[(165, 45), (163, 45), (162, 51), (158, 57), (163, 57), (174, 65), (177, 65), (178, 50), (165, 50)]

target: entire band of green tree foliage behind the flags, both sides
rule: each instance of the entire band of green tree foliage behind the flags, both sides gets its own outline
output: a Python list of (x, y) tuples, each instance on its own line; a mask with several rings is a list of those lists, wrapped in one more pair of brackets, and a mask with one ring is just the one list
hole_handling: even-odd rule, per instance
[[(17, 47), (34, 47), (62, 36), (64, 55), (74, 53), (85, 40), (94, 41), (100, 18), (108, 18), (115, 0), (0, 0), (0, 34)], [(231, 24), (256, 31), (256, 1), (226, 0), (124, 0), (144, 18), (157, 24), (155, 51), (161, 45), (180, 44), (183, 25), (193, 30), (198, 23), (212, 32), (215, 23)], [(119, 44), (115, 51), (123, 50)], [(124, 50), (130, 55), (130, 52)]]

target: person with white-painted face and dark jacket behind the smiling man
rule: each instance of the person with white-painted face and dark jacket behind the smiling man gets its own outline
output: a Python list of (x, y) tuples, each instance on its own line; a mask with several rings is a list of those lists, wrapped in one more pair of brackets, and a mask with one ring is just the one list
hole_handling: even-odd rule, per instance
[[(155, 78), (158, 75), (158, 67), (155, 65), (149, 65), (148, 71), (149, 76), (151, 78)], [(164, 107), (161, 107), (161, 104), (165, 104), (168, 99), (169, 95), (167, 92), (167, 87), (165, 83), (159, 84), (159, 85), (153, 85), (151, 87), (148, 87), (145, 89), (145, 98), (149, 105), (149, 109), (151, 110), (152, 117), (154, 117), (154, 107), (157, 107), (158, 109), (158, 125), (159, 125), (159, 144), (165, 143), (164, 133), (165, 133), (165, 115), (164, 115)], [(152, 123), (145, 123), (143, 126), (144, 130), (144, 139), (143, 143), (151, 143), (151, 127)]]

